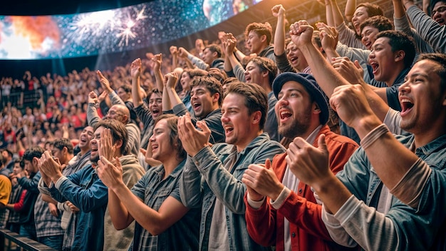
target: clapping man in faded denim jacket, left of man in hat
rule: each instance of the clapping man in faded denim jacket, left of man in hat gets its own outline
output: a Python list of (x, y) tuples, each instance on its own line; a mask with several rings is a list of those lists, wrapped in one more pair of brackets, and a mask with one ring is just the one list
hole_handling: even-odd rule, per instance
[[(263, 132), (268, 111), (265, 91), (252, 83), (231, 83), (222, 105), (225, 143), (208, 145), (206, 123), (196, 129), (189, 114), (178, 120), (178, 133), (188, 156), (180, 181), (182, 203), (202, 208), (199, 250), (267, 250), (252, 240), (244, 219), (242, 175), (251, 163), (283, 153)], [(201, 130), (200, 130), (201, 129)]]

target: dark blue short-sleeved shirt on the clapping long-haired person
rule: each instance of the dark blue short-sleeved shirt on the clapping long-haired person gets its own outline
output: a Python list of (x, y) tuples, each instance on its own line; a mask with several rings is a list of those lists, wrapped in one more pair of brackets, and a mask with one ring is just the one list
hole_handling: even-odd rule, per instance
[[(185, 160), (162, 180), (165, 170), (162, 165), (151, 168), (132, 188), (132, 192), (145, 205), (159, 210), (167, 197), (180, 200), (180, 176)], [(185, 216), (160, 235), (153, 236), (136, 222), (135, 237), (130, 250), (197, 250), (199, 234), (199, 209), (191, 209)], [(172, 241), (175, 240), (175, 241)]]

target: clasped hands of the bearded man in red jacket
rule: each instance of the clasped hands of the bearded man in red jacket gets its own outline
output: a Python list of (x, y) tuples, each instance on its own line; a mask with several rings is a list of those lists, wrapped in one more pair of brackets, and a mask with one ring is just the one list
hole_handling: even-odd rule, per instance
[(276, 200), (284, 189), (284, 185), (271, 170), (269, 159), (266, 160), (265, 165), (249, 165), (244, 171), (242, 182), (247, 185), (249, 198), (254, 201), (262, 200), (264, 196)]

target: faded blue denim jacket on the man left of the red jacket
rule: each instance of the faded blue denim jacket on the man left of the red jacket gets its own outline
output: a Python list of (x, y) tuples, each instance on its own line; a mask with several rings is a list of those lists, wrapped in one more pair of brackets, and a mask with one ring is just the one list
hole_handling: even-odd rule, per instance
[(188, 208), (202, 208), (199, 250), (207, 250), (209, 246), (209, 230), (217, 198), (225, 206), (229, 249), (266, 250), (248, 235), (243, 200), (247, 188), (241, 180), (249, 164), (264, 164), (267, 158), (272, 160), (274, 155), (284, 153), (285, 149), (278, 142), (270, 140), (267, 133), (262, 133), (237, 153), (235, 168), (231, 168), (229, 173), (223, 163), (234, 148), (235, 145), (218, 143), (212, 148), (203, 148), (193, 158), (187, 157), (180, 181), (180, 196)]

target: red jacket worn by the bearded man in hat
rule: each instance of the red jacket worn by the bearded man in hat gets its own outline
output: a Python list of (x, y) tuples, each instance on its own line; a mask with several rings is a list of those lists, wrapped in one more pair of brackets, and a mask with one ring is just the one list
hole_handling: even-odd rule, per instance
[[(338, 173), (358, 148), (358, 144), (350, 138), (331, 132), (328, 126), (323, 126), (313, 146), (318, 146), (317, 141), (322, 133), (326, 135), (330, 168), (333, 173)], [(286, 153), (276, 155), (271, 167), (281, 181), (287, 166), (285, 157)], [(258, 210), (248, 205), (246, 194), (244, 201), (247, 205), (245, 217), (249, 235), (261, 245), (276, 245), (277, 251), (284, 250), (284, 217), (286, 217), (290, 222), (291, 250), (343, 249), (331, 240), (321, 218), (322, 206), (316, 203), (310, 186), (305, 183), (299, 182), (298, 193), (291, 191), (279, 210), (275, 210), (269, 204), (269, 198)]]

